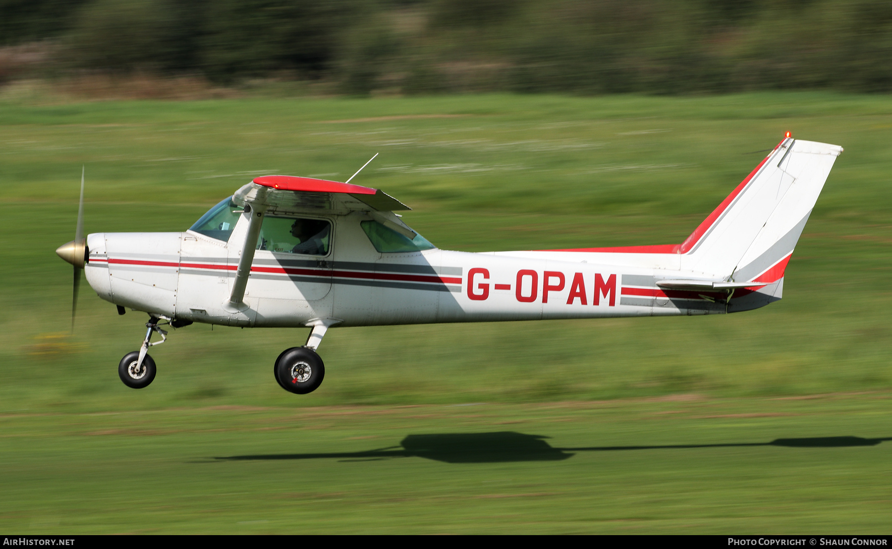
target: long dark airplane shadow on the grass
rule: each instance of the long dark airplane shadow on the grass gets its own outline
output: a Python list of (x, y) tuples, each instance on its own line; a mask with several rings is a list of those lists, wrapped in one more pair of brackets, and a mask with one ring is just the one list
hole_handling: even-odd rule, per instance
[(728, 444), (676, 444), (660, 446), (620, 447), (552, 447), (541, 435), (527, 435), (514, 431), (489, 433), (442, 433), (409, 435), (398, 447), (384, 447), (364, 452), (326, 454), (268, 454), (230, 455), (217, 457), (221, 461), (337, 459), (341, 461), (374, 461), (394, 457), (425, 457), (445, 463), (551, 462), (565, 460), (575, 452), (607, 452), (616, 450), (669, 450), (684, 448), (723, 447), (869, 447), (890, 438), (820, 437), (777, 438), (771, 442), (743, 442)]

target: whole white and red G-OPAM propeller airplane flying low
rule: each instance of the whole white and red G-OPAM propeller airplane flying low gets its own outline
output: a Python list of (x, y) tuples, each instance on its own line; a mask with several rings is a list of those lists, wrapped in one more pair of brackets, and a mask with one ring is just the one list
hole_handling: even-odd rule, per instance
[[(325, 375), (316, 351), (332, 326), (764, 307), (780, 299), (784, 268), (842, 151), (788, 133), (681, 244), (484, 253), (439, 250), (393, 213), (409, 207), (352, 177), (257, 177), (185, 232), (85, 239), (81, 174), (76, 238), (56, 253), (74, 266), (72, 320), (81, 269), (120, 315), (148, 313), (142, 347), (118, 368), (128, 387), (153, 381), (146, 351), (166, 340), (162, 325), (200, 322), (310, 327), (274, 366), (279, 385), (304, 394)], [(150, 342), (153, 333), (161, 340)]]

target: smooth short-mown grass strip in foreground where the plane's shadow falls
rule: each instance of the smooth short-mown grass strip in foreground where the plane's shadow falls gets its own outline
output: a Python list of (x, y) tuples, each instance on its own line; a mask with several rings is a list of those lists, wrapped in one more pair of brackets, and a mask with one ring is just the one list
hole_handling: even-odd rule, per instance
[(888, 534), (890, 397), (4, 414), (0, 529)]

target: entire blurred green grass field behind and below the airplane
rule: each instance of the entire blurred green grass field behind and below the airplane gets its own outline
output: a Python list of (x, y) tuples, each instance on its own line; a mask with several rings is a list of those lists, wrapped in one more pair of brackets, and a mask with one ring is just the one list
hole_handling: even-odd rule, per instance
[[(270, 366), (305, 331), (186, 327), (141, 391), (145, 315), (85, 286), (69, 333), (81, 165), (87, 232), (380, 152), (356, 182), (444, 249), (661, 244), (787, 130), (846, 152), (757, 311), (333, 330), (304, 397)], [(0, 529), (888, 532), (892, 98), (7, 101), (0, 145)]]

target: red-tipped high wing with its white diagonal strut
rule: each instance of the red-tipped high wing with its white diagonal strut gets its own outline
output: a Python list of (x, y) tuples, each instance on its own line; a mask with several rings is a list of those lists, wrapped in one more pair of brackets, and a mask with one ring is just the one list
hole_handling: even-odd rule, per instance
[(346, 215), (351, 211), (365, 211), (378, 223), (385, 225), (409, 239), (417, 233), (403, 223), (394, 210), (411, 209), (380, 189), (358, 184), (327, 181), (312, 177), (261, 176), (245, 184), (232, 196), (233, 201), (244, 207), (245, 215), (251, 216), (248, 233), (235, 271), (232, 295), (226, 308), (242, 310), (244, 289), (251, 273), (254, 250), (260, 237), (260, 226), (267, 214), (306, 212)]

